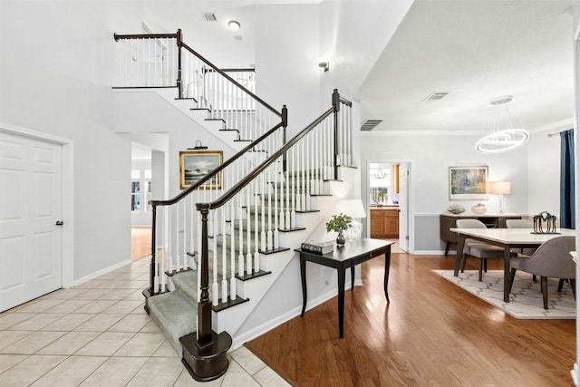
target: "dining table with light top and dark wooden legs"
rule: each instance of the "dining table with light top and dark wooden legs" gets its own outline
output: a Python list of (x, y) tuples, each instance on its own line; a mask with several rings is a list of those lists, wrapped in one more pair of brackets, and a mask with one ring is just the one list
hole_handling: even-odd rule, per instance
[(504, 249), (504, 302), (509, 302), (509, 272), (512, 249), (536, 248), (546, 240), (561, 236), (575, 236), (576, 230), (558, 228), (552, 233), (536, 233), (533, 228), (450, 228), (458, 233), (457, 256), (453, 276), (459, 276), (459, 266), (463, 256), (465, 239), (475, 239), (481, 242), (502, 247)]

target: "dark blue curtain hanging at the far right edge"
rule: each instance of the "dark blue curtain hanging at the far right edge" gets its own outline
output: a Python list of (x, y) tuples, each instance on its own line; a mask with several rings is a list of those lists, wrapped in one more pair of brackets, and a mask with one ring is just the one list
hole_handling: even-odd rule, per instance
[(574, 130), (560, 132), (560, 227), (575, 228)]

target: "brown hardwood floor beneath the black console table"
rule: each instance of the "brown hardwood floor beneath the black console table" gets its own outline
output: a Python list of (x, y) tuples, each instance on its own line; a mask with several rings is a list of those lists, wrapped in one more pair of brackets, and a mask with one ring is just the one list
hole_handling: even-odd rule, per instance
[(375, 258), (346, 292), (343, 339), (334, 297), (245, 345), (295, 386), (574, 385), (575, 320), (504, 314), (430, 271), (453, 263), (392, 254), (386, 305)]

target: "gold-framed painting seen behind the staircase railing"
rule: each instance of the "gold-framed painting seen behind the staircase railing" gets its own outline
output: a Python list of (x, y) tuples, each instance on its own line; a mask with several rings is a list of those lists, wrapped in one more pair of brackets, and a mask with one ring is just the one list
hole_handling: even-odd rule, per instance
[[(189, 189), (223, 162), (222, 150), (179, 150), (179, 189)], [(202, 189), (221, 189), (221, 172)]]

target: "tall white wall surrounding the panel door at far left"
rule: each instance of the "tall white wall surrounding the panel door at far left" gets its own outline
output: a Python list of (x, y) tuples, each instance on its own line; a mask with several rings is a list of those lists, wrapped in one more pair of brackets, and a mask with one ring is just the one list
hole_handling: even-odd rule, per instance
[(111, 131), (110, 80), (135, 5), (1, 0), (0, 121), (73, 141), (75, 282), (131, 259), (131, 142)]

